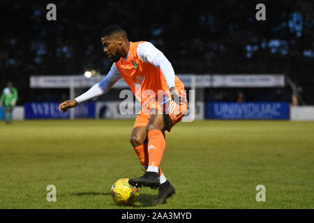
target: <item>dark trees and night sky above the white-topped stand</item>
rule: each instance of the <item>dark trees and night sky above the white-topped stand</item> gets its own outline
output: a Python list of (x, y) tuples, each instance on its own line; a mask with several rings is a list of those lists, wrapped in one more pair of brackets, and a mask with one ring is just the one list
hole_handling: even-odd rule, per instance
[[(46, 20), (55, 3), (57, 21)], [(266, 21), (255, 20), (257, 3)], [(148, 40), (175, 72), (283, 73), (313, 101), (313, 1), (0, 1), (1, 88), (8, 79), (31, 100), (31, 75), (78, 75), (111, 63), (100, 33), (119, 24), (131, 41)]]

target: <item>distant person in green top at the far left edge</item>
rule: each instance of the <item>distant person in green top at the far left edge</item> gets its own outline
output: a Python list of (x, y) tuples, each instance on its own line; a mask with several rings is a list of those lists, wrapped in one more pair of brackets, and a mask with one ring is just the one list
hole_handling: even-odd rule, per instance
[(6, 84), (6, 88), (3, 89), (1, 98), (0, 98), (0, 106), (3, 105), (6, 112), (6, 123), (12, 123), (12, 112), (15, 107), (17, 101), (17, 89), (13, 87), (12, 82), (8, 82)]

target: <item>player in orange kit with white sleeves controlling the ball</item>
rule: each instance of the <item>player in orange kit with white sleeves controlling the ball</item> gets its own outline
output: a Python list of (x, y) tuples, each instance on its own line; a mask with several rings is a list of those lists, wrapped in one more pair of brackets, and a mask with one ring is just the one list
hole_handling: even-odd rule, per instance
[(186, 113), (184, 84), (174, 75), (170, 61), (149, 42), (129, 42), (120, 26), (108, 26), (101, 33), (103, 52), (114, 63), (105, 79), (74, 100), (59, 105), (66, 112), (77, 104), (107, 93), (121, 77), (142, 104), (137, 114), (130, 143), (147, 171), (128, 182), (135, 187), (158, 188), (153, 205), (165, 203), (174, 187), (160, 169), (165, 150), (165, 130), (181, 121)]

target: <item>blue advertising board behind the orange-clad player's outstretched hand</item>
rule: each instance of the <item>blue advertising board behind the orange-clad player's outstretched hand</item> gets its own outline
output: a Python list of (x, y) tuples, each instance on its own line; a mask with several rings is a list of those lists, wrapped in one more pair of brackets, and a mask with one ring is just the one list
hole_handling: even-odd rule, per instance
[[(29, 102), (24, 104), (25, 118), (70, 118), (70, 112), (59, 112), (59, 102)], [(94, 102), (85, 102), (75, 107), (75, 118), (95, 118)]]

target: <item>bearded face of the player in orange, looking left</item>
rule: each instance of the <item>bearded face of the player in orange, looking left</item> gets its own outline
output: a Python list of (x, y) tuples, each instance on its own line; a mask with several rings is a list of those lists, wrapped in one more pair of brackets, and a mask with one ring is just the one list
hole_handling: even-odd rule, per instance
[(117, 63), (121, 58), (119, 53), (119, 40), (114, 37), (105, 36), (101, 38), (101, 44), (103, 45), (103, 52), (112, 60), (114, 63)]

